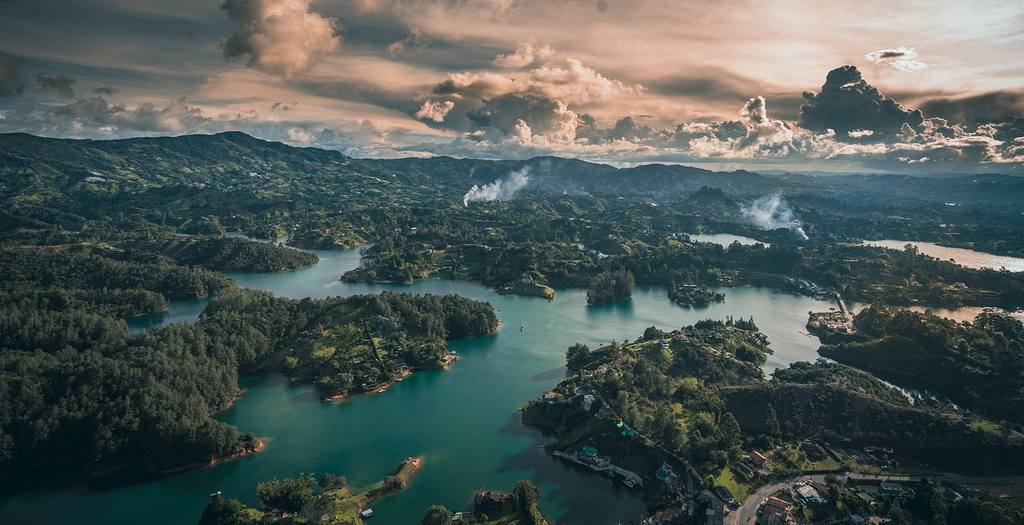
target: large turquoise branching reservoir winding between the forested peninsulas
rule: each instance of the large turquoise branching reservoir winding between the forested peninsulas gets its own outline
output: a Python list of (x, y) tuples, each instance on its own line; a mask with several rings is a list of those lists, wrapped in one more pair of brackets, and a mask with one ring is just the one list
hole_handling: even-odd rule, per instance
[[(724, 303), (692, 309), (675, 305), (659, 288), (637, 288), (632, 300), (587, 307), (581, 289), (559, 289), (547, 301), (500, 296), (467, 281), (346, 283), (338, 277), (358, 265), (358, 251), (315, 253), (321, 262), (310, 268), (227, 275), (240, 286), (291, 298), (383, 290), (459, 294), (490, 302), (502, 329), (453, 342), (462, 358), (449, 370), (417, 373), (383, 393), (343, 402), (322, 402), (312, 385), (292, 384), (278, 374), (243, 377), (246, 394), (217, 418), (262, 438), (266, 446), (260, 452), (148, 481), (69, 483), (52, 476), (43, 488), (0, 498), (0, 523), (194, 524), (217, 490), (257, 506), (257, 483), (325, 472), (366, 487), (408, 456), (423, 457), (423, 468), (409, 488), (373, 504), (376, 523), (419, 523), (431, 505), (465, 510), (481, 486), (511, 491), (518, 479), (537, 483), (541, 511), (556, 523), (628, 523), (644, 513), (632, 489), (543, 453), (539, 447), (549, 438), (519, 423), (517, 409), (564, 377), (566, 348), (633, 340), (650, 325), (671, 330), (705, 318), (753, 315), (775, 350), (765, 364), (770, 373), (817, 357), (818, 340), (804, 334), (807, 312), (835, 306), (754, 288), (719, 289)], [(200, 303), (175, 303), (158, 319), (133, 319), (133, 329), (144, 329), (141, 322), (195, 320), (201, 309)]]

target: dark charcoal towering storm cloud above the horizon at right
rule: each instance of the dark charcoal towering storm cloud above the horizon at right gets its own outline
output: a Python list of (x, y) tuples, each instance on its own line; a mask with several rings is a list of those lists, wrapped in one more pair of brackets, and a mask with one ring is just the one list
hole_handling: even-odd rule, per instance
[(904, 110), (864, 82), (853, 65), (828, 72), (821, 91), (806, 91), (804, 98), (807, 103), (800, 112), (800, 126), (819, 133), (835, 130), (839, 140), (892, 138), (904, 124), (918, 129), (924, 121), (920, 111)]

